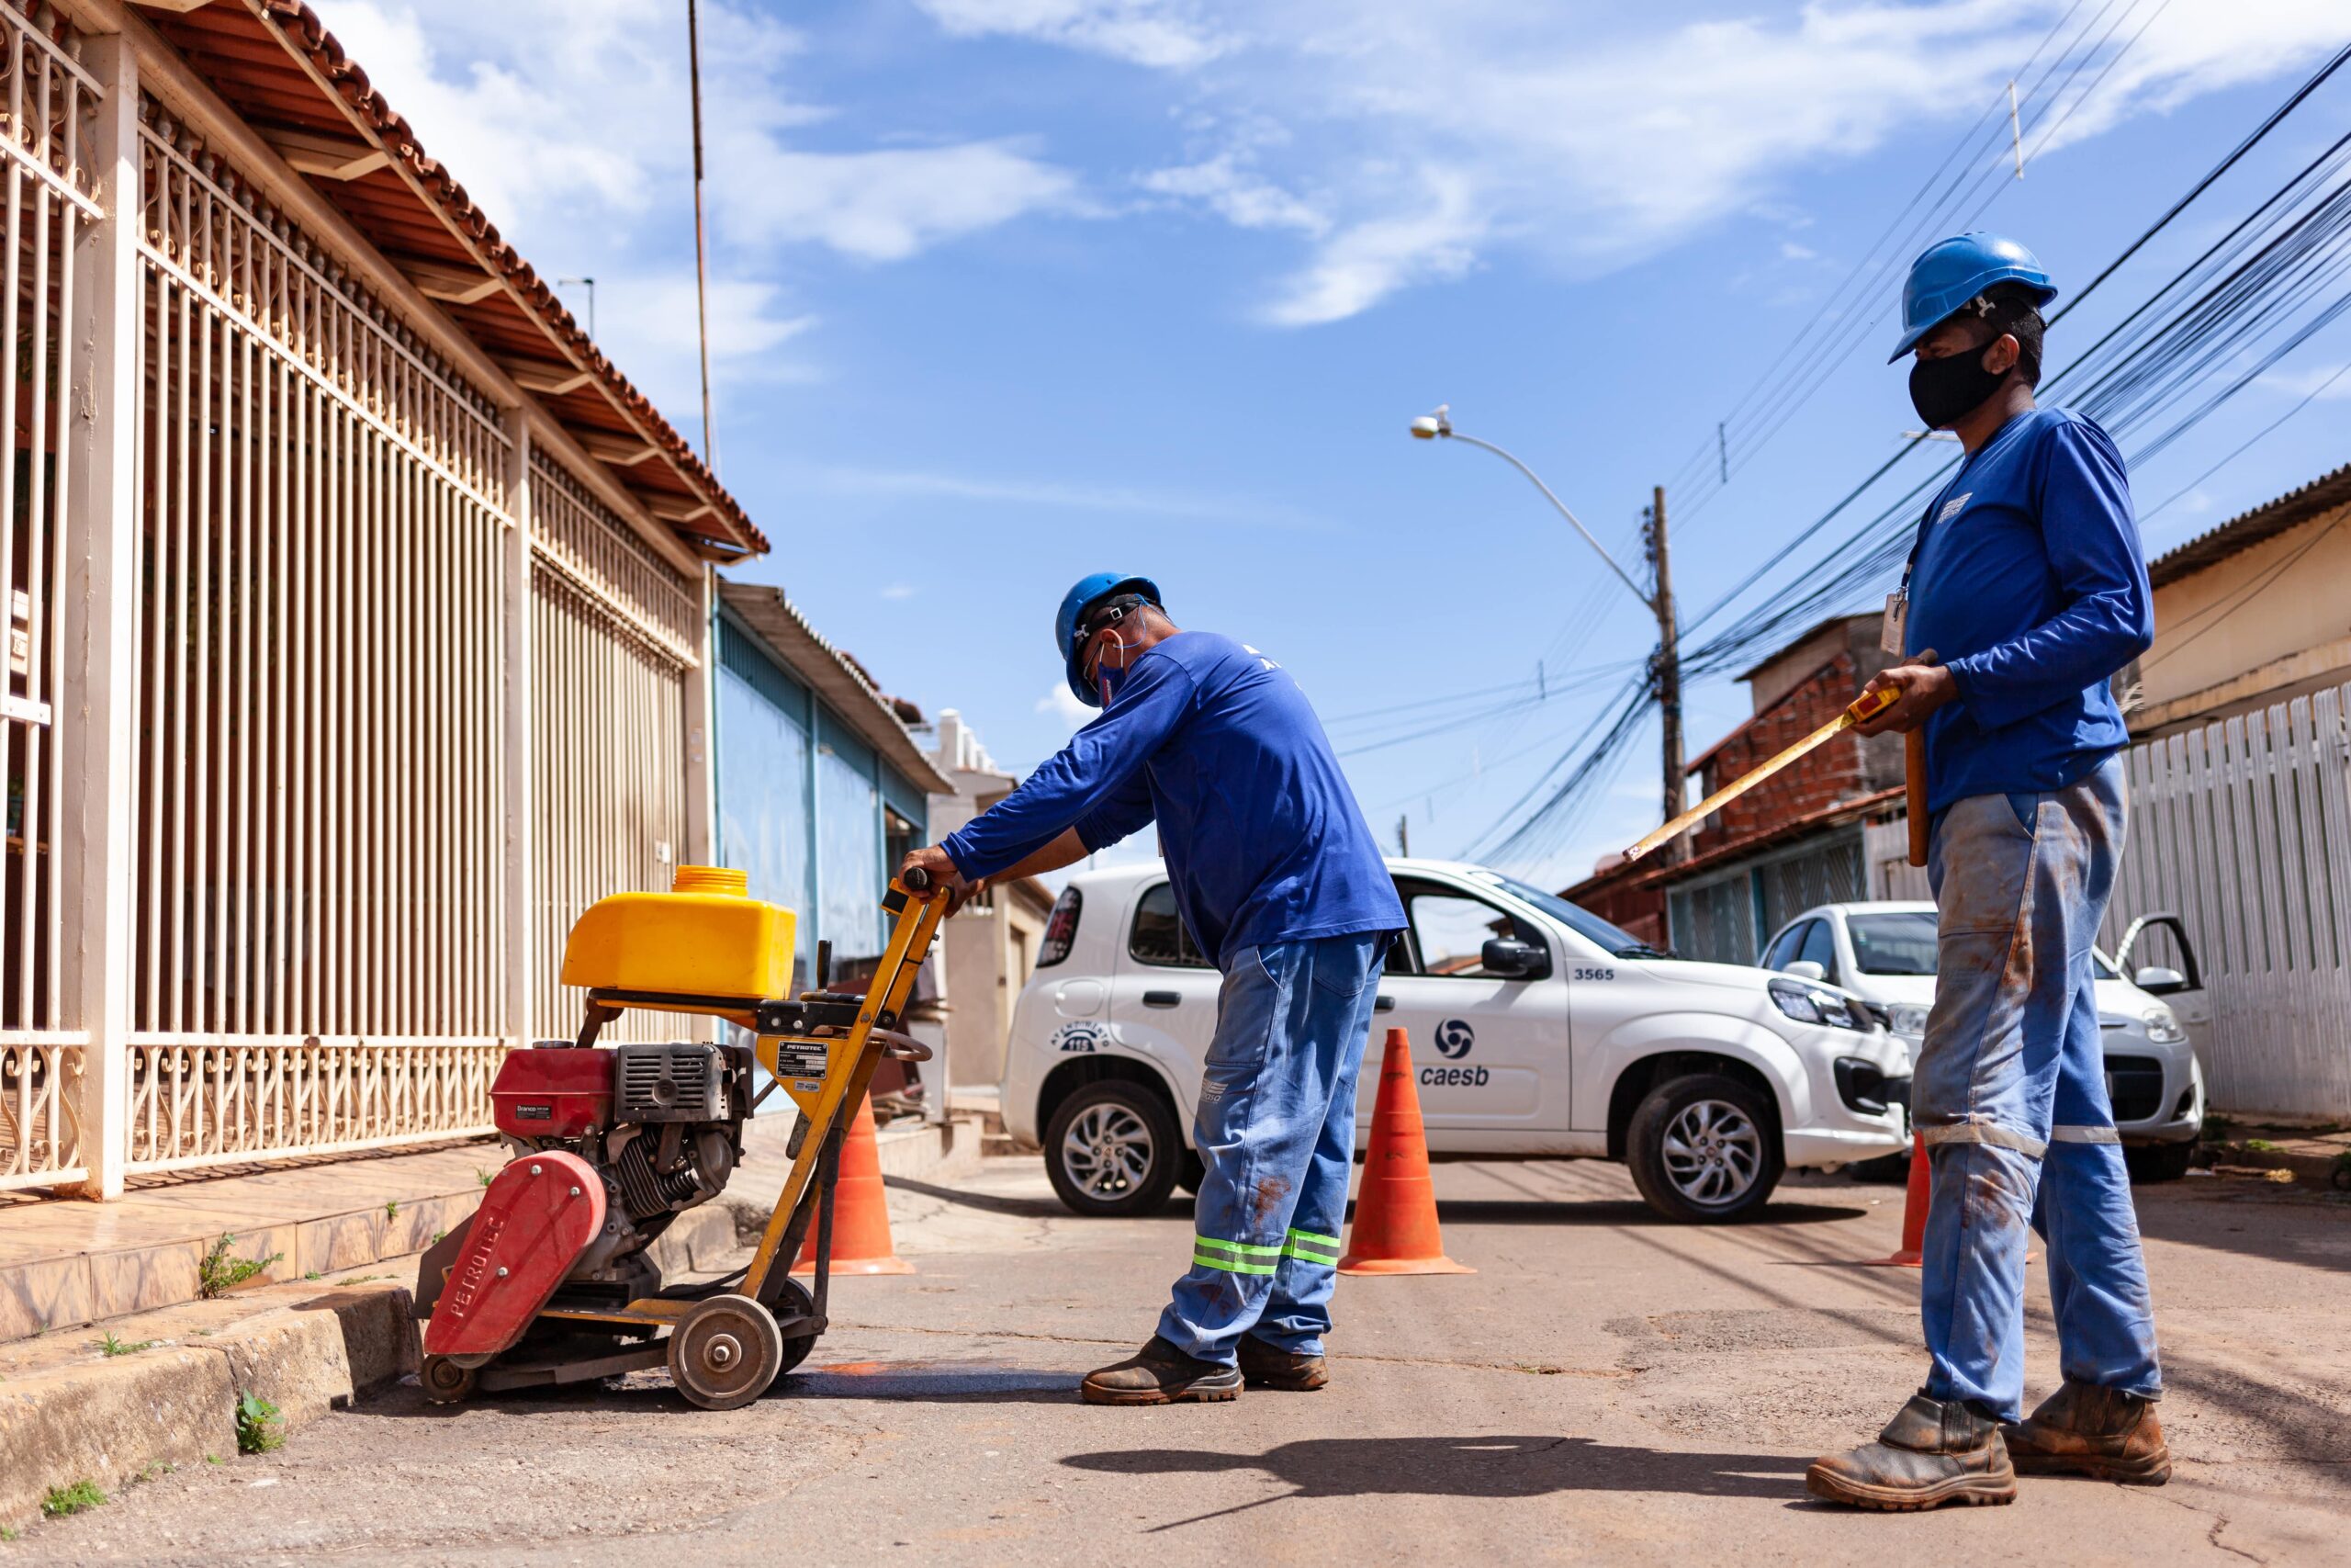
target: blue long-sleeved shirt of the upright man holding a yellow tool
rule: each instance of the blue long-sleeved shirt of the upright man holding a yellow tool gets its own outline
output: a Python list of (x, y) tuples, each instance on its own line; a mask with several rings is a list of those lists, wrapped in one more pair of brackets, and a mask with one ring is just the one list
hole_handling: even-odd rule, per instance
[(2010, 418), (1918, 527), (1904, 654), (1958, 682), (1925, 722), (1928, 809), (2062, 790), (2121, 750), (2106, 679), (2154, 635), (2123, 454), (2081, 414)]

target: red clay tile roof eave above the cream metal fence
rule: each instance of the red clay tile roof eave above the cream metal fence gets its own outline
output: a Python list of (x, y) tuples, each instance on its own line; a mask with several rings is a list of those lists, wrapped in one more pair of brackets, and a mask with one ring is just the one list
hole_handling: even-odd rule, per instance
[(341, 141), (357, 136), (381, 148), (386, 167), (357, 179), (310, 179), (310, 188), (411, 275), (418, 266), (442, 266), (496, 280), (498, 287), (482, 299), (435, 303), (510, 374), (522, 362), (555, 374), (550, 386), (576, 376), (578, 386), (564, 390), (527, 381), (524, 388), (590, 451), (600, 437), (649, 444), (658, 463), (621, 465), (614, 475), (665, 527), (689, 543), (710, 545), (708, 552), (719, 559), (766, 552), (766, 536), (686, 437), (581, 331), (555, 289), (473, 205), (465, 186), (423, 150), (409, 122), (343, 54), (317, 12), (301, 0), (219, 0), (139, 14), (263, 139), (270, 129), (289, 129)]

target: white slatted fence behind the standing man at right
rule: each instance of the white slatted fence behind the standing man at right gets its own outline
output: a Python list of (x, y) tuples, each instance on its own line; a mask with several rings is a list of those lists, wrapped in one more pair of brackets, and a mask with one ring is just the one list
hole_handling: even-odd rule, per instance
[[(2205, 985), (2205, 1086), (2233, 1114), (2351, 1117), (2351, 686), (2132, 745), (2130, 832), (2106, 926), (2172, 912)], [(1869, 830), (1871, 893), (1925, 898), (1897, 818)], [(2146, 938), (2130, 954), (2179, 954)]]

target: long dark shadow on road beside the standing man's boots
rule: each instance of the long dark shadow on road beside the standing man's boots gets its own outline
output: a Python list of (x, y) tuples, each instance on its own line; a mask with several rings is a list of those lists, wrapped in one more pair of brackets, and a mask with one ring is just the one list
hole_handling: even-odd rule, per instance
[(1589, 1436), (1317, 1436), (1265, 1453), (1117, 1448), (1074, 1453), (1072, 1469), (1117, 1476), (1262, 1472), (1291, 1486), (1239, 1507), (1173, 1519), (1176, 1530), (1291, 1497), (1542, 1497), (1547, 1493), (1679, 1493), (1780, 1497), (1801, 1493), (1810, 1460), (1775, 1453), (1676, 1453)]

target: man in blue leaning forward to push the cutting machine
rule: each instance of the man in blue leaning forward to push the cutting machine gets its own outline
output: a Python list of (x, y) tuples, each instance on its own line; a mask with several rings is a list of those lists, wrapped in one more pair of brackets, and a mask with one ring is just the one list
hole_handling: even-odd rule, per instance
[(1223, 971), (1199, 1086), (1192, 1267), (1159, 1331), (1089, 1403), (1328, 1382), (1324, 1333), (1354, 1166), (1354, 1088), (1396, 884), (1298, 682), (1168, 621), (1150, 578), (1079, 578), (1053, 618), (1070, 691), (1103, 715), (943, 844), (957, 900), (1072, 865), (1152, 823), (1192, 943)]

